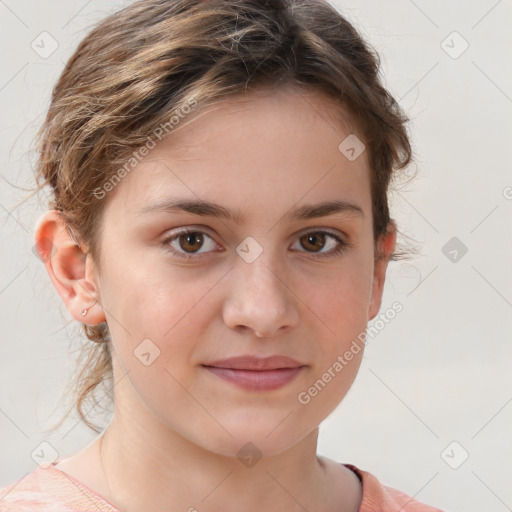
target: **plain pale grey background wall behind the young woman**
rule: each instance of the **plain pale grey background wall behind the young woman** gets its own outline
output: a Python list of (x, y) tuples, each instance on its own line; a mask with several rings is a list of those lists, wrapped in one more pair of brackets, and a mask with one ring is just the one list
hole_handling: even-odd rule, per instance
[[(319, 452), (445, 510), (511, 510), (512, 3), (333, 3), (377, 48), (411, 118), (418, 175), (393, 195), (392, 214), (421, 253), (391, 263), (382, 311), (397, 300), (404, 309), (368, 344)], [(122, 5), (0, 0), (0, 486), (36, 467), (42, 441), (64, 457), (95, 437), (76, 418), (45, 433), (61, 413), (79, 329), (32, 252), (44, 197), (18, 203), (65, 61)], [(31, 47), (43, 31), (58, 44), (50, 56)]]

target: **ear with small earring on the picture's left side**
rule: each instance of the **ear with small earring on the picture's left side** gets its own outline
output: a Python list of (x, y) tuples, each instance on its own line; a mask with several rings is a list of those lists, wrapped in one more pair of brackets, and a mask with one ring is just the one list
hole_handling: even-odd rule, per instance
[[(46, 212), (37, 222), (35, 250), (71, 316), (78, 322), (105, 322), (92, 258), (71, 237), (58, 210)], [(87, 308), (87, 315), (82, 311)]]

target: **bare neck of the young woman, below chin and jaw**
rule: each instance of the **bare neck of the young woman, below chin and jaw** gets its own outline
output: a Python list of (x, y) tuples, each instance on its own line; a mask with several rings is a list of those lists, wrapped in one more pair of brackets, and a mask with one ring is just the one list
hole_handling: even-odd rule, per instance
[(124, 512), (302, 511), (326, 503), (326, 465), (316, 456), (318, 428), (285, 452), (246, 465), (170, 429), (142, 426), (116, 410), (102, 435), (101, 461), (111, 493), (105, 497)]

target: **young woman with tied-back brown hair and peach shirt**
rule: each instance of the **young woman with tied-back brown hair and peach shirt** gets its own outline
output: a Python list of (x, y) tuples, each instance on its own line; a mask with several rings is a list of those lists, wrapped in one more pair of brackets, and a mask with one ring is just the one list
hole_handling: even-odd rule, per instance
[(0, 509), (437, 510), (316, 453), (396, 255), (405, 121), (322, 0), (142, 0), (87, 35), (35, 240), (93, 342), (78, 410), (111, 378), (114, 414)]

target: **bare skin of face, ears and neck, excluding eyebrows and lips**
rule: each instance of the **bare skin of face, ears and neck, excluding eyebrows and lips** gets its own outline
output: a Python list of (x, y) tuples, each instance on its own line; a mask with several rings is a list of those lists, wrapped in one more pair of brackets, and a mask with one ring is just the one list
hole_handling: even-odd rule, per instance
[[(332, 112), (321, 93), (288, 87), (232, 97), (178, 126), (104, 199), (99, 262), (56, 211), (40, 219), (36, 242), (43, 260), (50, 243), (57, 248), (45, 266), (69, 312), (108, 323), (117, 383), (109, 427), (57, 468), (123, 511), (359, 509), (358, 478), (316, 449), (318, 427), (350, 389), (363, 350), (308, 404), (297, 396), (377, 315), (396, 231), (379, 240), (375, 260), (367, 152), (345, 158), (338, 145), (357, 131)], [(201, 198), (245, 218), (137, 214), (170, 198)], [(326, 200), (362, 215), (284, 217)], [(187, 226), (208, 236), (167, 247), (188, 250), (190, 260), (162, 244)], [(334, 254), (329, 236), (303, 236), (325, 230), (349, 246)], [(252, 263), (236, 252), (248, 236), (263, 249)], [(160, 350), (149, 366), (134, 355), (147, 338)], [(265, 392), (201, 366), (244, 354), (307, 366)], [(236, 455), (248, 442), (262, 455), (252, 467)]]

